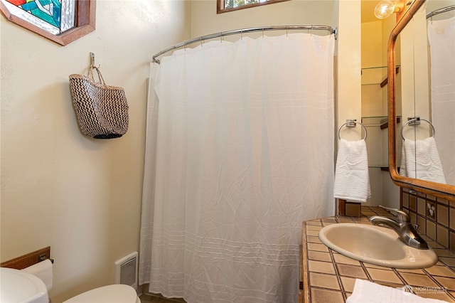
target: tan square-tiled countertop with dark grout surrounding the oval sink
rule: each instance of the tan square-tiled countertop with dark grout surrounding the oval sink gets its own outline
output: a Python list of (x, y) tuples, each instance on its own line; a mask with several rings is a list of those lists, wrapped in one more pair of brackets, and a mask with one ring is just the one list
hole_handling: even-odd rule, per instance
[(353, 292), (355, 279), (370, 280), (389, 287), (411, 285), (420, 297), (455, 302), (455, 253), (422, 235), (439, 256), (436, 265), (422, 270), (403, 270), (353, 260), (331, 250), (319, 240), (326, 225), (370, 224), (368, 217), (390, 216), (381, 208), (362, 206), (362, 217), (328, 217), (302, 224), (299, 303), (345, 302)]

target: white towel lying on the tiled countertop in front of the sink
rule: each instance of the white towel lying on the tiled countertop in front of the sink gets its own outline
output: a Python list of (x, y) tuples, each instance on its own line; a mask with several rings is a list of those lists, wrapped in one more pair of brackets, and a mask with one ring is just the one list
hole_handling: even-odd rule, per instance
[(355, 279), (353, 294), (346, 303), (447, 303), (439, 299), (427, 299), (412, 294), (411, 286), (392, 288), (370, 281)]

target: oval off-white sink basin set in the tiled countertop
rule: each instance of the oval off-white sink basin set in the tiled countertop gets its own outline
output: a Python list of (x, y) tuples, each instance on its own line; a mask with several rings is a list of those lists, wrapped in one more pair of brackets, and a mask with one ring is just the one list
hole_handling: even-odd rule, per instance
[(319, 231), (322, 243), (355, 260), (395, 268), (425, 268), (436, 264), (434, 250), (402, 243), (390, 228), (358, 223), (328, 225)]

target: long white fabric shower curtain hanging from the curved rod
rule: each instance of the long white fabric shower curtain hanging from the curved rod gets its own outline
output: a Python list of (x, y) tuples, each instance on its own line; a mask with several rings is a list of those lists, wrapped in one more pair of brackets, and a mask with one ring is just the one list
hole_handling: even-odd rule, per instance
[(152, 63), (139, 283), (296, 302), (301, 223), (333, 216), (334, 37), (212, 41)]

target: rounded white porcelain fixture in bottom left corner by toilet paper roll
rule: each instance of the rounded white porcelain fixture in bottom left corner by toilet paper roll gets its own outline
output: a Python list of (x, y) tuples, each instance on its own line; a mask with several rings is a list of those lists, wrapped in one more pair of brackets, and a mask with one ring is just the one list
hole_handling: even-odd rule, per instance
[(44, 282), (28, 272), (0, 267), (0, 278), (0, 302), (49, 302)]

